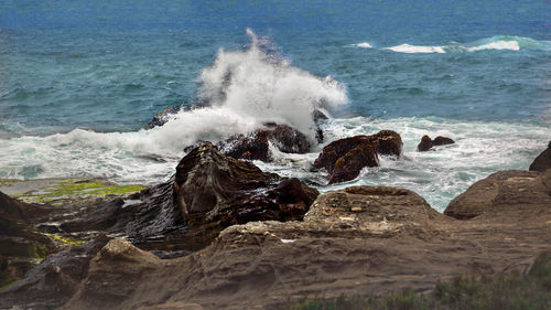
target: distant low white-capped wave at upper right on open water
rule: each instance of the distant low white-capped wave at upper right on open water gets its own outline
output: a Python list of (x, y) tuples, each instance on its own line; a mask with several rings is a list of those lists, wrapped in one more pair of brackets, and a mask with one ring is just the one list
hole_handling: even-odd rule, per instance
[(496, 35), (487, 39), (477, 40), (471, 43), (452, 42), (446, 45), (421, 46), (401, 44), (397, 46), (386, 47), (399, 53), (463, 53), (478, 52), (486, 50), (540, 50), (551, 51), (551, 41), (534, 40), (531, 38), (515, 36), (515, 35)]

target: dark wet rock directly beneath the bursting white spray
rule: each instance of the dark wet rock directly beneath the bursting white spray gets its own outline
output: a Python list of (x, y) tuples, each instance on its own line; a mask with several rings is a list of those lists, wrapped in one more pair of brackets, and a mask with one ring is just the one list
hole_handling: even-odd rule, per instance
[(306, 136), (299, 130), (273, 122), (264, 124), (251, 135), (231, 137), (217, 145), (220, 151), (235, 159), (269, 160), (269, 142), (285, 153), (305, 153), (310, 150)]

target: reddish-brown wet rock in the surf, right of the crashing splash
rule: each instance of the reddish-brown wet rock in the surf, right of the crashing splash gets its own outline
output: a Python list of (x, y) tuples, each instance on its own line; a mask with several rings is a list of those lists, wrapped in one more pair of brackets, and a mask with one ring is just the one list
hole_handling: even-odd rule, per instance
[(325, 168), (329, 184), (358, 177), (365, 167), (378, 167), (378, 154), (400, 157), (402, 139), (392, 130), (371, 136), (355, 136), (331, 142), (314, 162), (315, 169)]

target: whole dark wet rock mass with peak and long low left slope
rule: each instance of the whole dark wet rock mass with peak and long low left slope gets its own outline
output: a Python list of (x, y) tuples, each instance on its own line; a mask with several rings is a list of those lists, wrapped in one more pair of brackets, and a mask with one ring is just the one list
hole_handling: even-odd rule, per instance
[(224, 156), (210, 142), (192, 150), (165, 183), (82, 207), (61, 232), (110, 232), (149, 250), (196, 250), (225, 227), (248, 221), (301, 220), (317, 191)]

